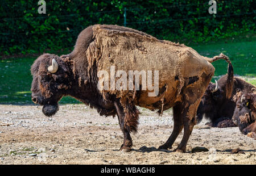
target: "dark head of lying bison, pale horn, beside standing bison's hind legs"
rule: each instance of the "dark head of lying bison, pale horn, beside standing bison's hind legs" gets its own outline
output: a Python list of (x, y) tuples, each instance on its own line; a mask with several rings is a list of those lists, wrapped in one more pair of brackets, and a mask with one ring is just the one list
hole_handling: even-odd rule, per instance
[(217, 116), (218, 107), (225, 98), (224, 91), (218, 86), (218, 82), (215, 82), (209, 83), (207, 90), (201, 98), (201, 102), (197, 108), (197, 123), (203, 119), (203, 115), (213, 121)]

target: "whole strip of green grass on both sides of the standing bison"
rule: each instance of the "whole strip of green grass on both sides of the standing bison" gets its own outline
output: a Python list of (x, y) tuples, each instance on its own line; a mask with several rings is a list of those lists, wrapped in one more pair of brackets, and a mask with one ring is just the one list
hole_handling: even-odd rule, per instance
[[(190, 47), (207, 57), (223, 52), (232, 61), (234, 74), (243, 76), (246, 81), (256, 85), (256, 41), (221, 42)], [(0, 60), (0, 104), (32, 104), (30, 67), (35, 59), (35, 57), (24, 57)], [(216, 68), (215, 79), (226, 74), (228, 64), (224, 60), (213, 62), (213, 65)], [(64, 97), (60, 103), (79, 103), (79, 101)]]

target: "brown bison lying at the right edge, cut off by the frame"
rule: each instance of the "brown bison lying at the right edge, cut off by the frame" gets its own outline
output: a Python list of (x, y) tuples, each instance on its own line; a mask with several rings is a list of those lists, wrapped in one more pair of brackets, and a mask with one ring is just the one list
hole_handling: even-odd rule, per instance
[(252, 132), (256, 139), (256, 94), (243, 94), (238, 90), (233, 99), (236, 108), (232, 120), (243, 134)]

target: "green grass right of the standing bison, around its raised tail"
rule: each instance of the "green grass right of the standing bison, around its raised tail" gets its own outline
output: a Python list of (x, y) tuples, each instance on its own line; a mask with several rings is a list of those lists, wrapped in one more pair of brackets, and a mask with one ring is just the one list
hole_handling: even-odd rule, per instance
[[(256, 41), (243, 41), (236, 43), (216, 43), (191, 46), (200, 55), (213, 57), (221, 52), (228, 56), (234, 68), (234, 74), (245, 77), (256, 76)], [(224, 60), (213, 62), (214, 76), (227, 73), (228, 64)], [(255, 83), (255, 81), (254, 81)]]

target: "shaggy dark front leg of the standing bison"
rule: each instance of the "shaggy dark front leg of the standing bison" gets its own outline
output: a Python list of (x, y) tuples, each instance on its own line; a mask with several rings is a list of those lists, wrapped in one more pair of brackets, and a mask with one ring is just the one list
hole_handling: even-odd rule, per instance
[(120, 128), (123, 132), (123, 144), (119, 149), (122, 152), (130, 152), (131, 146), (133, 146), (133, 142), (130, 136), (130, 130), (133, 130), (133, 127), (127, 125), (127, 117), (130, 115), (138, 116), (138, 110), (133, 104), (121, 104), (119, 100), (114, 102), (115, 108), (117, 110), (117, 116), (119, 120)]

